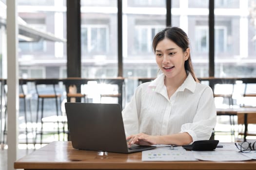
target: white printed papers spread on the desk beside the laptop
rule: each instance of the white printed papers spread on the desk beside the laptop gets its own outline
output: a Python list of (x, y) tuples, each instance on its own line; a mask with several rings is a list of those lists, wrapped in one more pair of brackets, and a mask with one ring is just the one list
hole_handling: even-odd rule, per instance
[(215, 151), (186, 151), (181, 146), (158, 146), (154, 150), (142, 152), (142, 161), (246, 161), (256, 159), (256, 152), (239, 153), (235, 145), (224, 144)]

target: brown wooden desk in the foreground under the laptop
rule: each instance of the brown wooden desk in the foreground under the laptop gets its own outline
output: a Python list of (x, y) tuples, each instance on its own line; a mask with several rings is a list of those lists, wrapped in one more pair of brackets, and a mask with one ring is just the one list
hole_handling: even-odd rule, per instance
[[(188, 151), (189, 152), (189, 151)], [(256, 160), (241, 162), (142, 162), (139, 153), (108, 153), (72, 148), (71, 142), (52, 142), (14, 163), (25, 170), (255, 170)]]

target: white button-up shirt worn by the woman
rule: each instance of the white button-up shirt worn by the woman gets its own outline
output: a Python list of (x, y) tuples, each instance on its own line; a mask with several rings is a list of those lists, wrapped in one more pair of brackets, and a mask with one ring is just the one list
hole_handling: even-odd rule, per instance
[(126, 136), (187, 132), (193, 141), (208, 140), (217, 121), (211, 87), (195, 82), (190, 73), (170, 99), (164, 74), (139, 85), (122, 117)]

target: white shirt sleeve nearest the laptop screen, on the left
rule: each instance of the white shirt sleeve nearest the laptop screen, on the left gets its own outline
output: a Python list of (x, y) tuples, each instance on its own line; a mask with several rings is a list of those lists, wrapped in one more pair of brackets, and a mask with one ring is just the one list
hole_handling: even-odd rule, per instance
[(138, 134), (138, 117), (141, 105), (141, 86), (138, 86), (131, 101), (122, 111), (122, 118), (126, 137)]

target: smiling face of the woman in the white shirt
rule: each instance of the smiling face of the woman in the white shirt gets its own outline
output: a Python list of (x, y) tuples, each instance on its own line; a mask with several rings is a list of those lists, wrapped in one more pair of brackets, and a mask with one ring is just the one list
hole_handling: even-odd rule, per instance
[(186, 74), (184, 63), (189, 57), (189, 48), (183, 52), (172, 40), (164, 38), (156, 47), (156, 62), (167, 78)]

